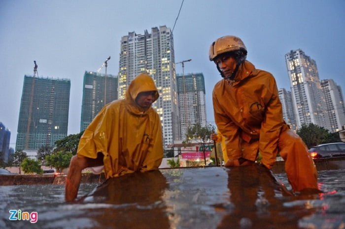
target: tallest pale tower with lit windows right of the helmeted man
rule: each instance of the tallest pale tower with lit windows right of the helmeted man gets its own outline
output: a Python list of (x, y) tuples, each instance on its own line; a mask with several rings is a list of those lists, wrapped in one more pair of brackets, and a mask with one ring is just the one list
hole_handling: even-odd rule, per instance
[(331, 130), (315, 60), (301, 50), (285, 55), (298, 128), (313, 123)]

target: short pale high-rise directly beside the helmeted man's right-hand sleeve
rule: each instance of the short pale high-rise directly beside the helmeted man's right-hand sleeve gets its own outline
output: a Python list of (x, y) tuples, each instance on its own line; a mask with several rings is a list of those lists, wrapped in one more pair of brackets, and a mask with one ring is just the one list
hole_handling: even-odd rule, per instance
[(291, 129), (297, 130), (296, 128), (296, 117), (295, 117), (295, 108), (292, 102), (291, 91), (286, 90), (285, 88), (280, 88), (278, 90), (279, 99), (282, 105), (283, 118), (286, 124), (290, 126)]

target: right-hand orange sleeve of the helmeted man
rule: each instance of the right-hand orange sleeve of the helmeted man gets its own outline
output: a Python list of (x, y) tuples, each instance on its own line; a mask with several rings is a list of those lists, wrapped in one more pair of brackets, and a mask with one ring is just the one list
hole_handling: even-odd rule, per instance
[(276, 162), (277, 144), (283, 125), (283, 117), (278, 89), (273, 76), (269, 78), (266, 85), (267, 88), (263, 93), (266, 113), (265, 119), (261, 123), (259, 150), (262, 155), (262, 163), (271, 168)]

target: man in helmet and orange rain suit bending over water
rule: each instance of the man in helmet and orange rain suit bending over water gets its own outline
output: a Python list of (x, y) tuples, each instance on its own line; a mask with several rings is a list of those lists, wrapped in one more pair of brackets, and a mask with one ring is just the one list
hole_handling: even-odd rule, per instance
[(292, 189), (316, 191), (315, 165), (305, 143), (283, 121), (275, 78), (255, 69), (246, 55), (236, 36), (218, 38), (209, 50), (209, 59), (223, 77), (212, 99), (216, 125), (226, 138), (225, 166), (252, 165), (260, 152), (261, 163), (271, 169), (279, 152)]

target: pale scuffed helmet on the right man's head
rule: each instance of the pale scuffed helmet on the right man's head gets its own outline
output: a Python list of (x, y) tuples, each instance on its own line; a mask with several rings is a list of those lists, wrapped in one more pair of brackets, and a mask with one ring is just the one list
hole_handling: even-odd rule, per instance
[(241, 51), (241, 56), (244, 57), (244, 61), (247, 56), (247, 48), (241, 38), (237, 36), (222, 36), (215, 40), (209, 47), (209, 60), (214, 61), (214, 59), (221, 54), (237, 50)]

